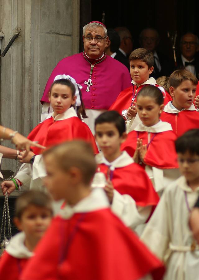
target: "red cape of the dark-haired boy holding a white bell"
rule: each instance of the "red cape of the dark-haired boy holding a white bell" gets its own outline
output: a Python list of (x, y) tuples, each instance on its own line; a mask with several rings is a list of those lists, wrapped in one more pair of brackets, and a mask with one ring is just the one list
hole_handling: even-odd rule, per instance
[[(98, 168), (107, 176), (108, 166), (99, 164)], [(137, 163), (115, 168), (112, 183), (114, 189), (120, 194), (130, 195), (138, 206), (156, 206), (159, 202), (159, 196), (148, 175)]]

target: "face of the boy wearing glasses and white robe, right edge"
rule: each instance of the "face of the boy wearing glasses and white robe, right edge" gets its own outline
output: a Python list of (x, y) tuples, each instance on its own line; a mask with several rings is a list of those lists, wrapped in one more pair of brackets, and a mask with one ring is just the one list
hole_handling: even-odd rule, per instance
[(199, 185), (199, 156), (190, 154), (188, 151), (185, 153), (178, 153), (178, 164), (182, 175), (185, 176), (189, 183), (198, 180)]

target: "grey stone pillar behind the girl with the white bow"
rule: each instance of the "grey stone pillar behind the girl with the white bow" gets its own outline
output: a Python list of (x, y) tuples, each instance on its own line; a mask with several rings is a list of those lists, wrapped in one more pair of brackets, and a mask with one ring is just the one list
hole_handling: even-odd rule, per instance
[[(27, 136), (40, 121), (45, 84), (56, 64), (79, 51), (80, 0), (0, 0), (1, 52), (20, 30), (1, 59), (0, 124)], [(9, 141), (2, 145), (13, 147)], [(3, 170), (14, 170), (3, 160)]]

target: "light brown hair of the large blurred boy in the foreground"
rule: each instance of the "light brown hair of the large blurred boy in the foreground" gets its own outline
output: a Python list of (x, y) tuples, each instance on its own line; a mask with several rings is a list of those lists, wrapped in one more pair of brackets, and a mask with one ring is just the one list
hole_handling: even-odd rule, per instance
[(93, 148), (83, 140), (67, 141), (49, 148), (43, 153), (44, 158), (47, 155), (52, 155), (53, 161), (63, 171), (67, 172), (71, 167), (78, 168), (84, 184), (90, 183), (97, 168)]

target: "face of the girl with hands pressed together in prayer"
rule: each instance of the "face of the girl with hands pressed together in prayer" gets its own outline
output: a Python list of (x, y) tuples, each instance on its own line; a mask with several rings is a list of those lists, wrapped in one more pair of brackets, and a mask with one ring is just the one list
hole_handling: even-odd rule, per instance
[(163, 109), (164, 104), (158, 105), (154, 98), (149, 96), (138, 96), (137, 98), (137, 113), (146, 126), (157, 124)]

